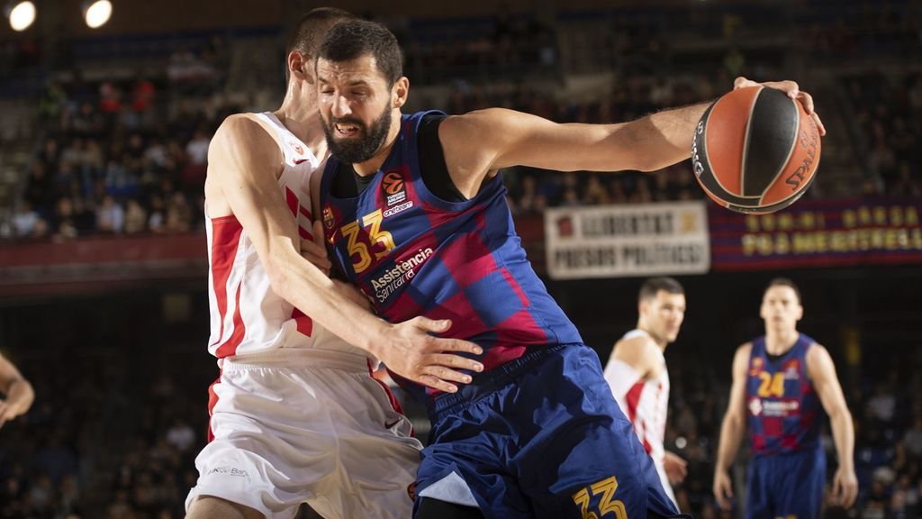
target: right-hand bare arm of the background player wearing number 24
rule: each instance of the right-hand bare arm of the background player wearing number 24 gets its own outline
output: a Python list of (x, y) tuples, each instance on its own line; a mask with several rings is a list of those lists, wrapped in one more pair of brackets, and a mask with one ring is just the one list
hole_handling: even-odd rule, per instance
[(833, 500), (845, 508), (855, 503), (858, 481), (855, 476), (855, 425), (845, 404), (842, 386), (835, 374), (833, 359), (826, 348), (813, 344), (807, 352), (807, 376), (813, 382), (820, 402), (833, 426), (833, 443), (839, 468), (833, 477)]

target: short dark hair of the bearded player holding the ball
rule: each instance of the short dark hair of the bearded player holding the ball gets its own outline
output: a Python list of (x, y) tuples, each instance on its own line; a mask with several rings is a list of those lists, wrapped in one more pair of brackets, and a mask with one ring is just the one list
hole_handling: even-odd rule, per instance
[(338, 24), (326, 33), (317, 57), (341, 63), (372, 54), (389, 85), (403, 76), (403, 54), (394, 34), (384, 25), (363, 19)]

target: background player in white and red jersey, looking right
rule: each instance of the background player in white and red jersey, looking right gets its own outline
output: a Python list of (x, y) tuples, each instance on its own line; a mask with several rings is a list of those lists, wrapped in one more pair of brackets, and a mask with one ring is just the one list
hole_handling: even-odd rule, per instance
[(685, 291), (673, 278), (651, 278), (640, 287), (637, 328), (615, 343), (605, 380), (631, 420), (669, 498), (676, 497), (671, 484), (686, 475), (686, 463), (663, 448), (669, 404), (669, 374), (663, 353), (676, 340), (685, 318)]

